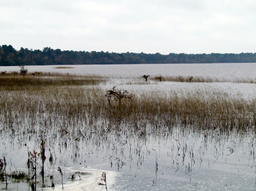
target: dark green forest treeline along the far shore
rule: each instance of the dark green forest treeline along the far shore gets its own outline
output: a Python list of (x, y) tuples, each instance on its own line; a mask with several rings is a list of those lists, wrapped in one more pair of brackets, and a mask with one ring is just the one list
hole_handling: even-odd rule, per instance
[(96, 51), (43, 50), (20, 48), (15, 50), (11, 45), (0, 46), (0, 66), (20, 65), (65, 65), (65, 64), (141, 64), (141, 63), (245, 63), (256, 62), (256, 53), (211, 53), (185, 54), (170, 53), (115, 53)]

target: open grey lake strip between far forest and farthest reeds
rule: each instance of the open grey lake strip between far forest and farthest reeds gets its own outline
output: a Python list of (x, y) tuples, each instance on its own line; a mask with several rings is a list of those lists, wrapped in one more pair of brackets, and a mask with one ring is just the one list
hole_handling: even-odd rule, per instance
[[(100, 74), (122, 77), (148, 75), (162, 76), (209, 76), (209, 77), (255, 77), (256, 63), (213, 63), (213, 64), (116, 64), (116, 65), (65, 65), (26, 66), (29, 72), (62, 72), (76, 74)], [(1, 67), (1, 71), (19, 71), (18, 66)]]

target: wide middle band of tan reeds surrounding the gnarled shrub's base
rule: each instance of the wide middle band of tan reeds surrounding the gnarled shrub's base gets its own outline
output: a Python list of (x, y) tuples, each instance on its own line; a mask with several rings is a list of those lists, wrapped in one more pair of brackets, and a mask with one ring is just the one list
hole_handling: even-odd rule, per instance
[(254, 131), (256, 125), (255, 98), (230, 97), (221, 91), (198, 89), (165, 93), (155, 90), (140, 92), (131, 100), (111, 100), (111, 105), (105, 94), (99, 87), (80, 86), (1, 90), (1, 128), (17, 131), (21, 126), (15, 124), (33, 124), (28, 128), (54, 127), (61, 131), (60, 127), (68, 124), (72, 128), (67, 131), (73, 133), (81, 124), (82, 127), (101, 124), (103, 129), (127, 131), (132, 128), (133, 132), (139, 130), (147, 134), (170, 133), (177, 127), (248, 132)]

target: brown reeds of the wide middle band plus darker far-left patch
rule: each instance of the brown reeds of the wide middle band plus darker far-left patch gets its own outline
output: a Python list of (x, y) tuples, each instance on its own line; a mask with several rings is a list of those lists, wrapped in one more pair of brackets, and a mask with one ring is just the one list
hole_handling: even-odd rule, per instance
[(97, 75), (2, 75), (0, 131), (39, 136), (47, 130), (51, 136), (68, 132), (75, 138), (95, 129), (100, 129), (100, 136), (111, 131), (168, 135), (175, 128), (221, 133), (255, 131), (255, 97), (248, 100), (241, 94), (230, 96), (211, 88), (170, 92), (155, 89), (132, 92), (131, 99), (108, 101), (107, 89), (98, 86), (107, 81)]

